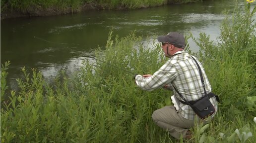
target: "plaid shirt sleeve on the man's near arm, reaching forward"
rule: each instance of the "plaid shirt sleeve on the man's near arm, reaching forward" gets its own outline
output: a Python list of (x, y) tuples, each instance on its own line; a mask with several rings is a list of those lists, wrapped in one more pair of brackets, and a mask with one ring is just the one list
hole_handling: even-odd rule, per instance
[(143, 77), (138, 74), (135, 78), (135, 82), (142, 90), (151, 91), (170, 84), (176, 76), (176, 68), (173, 64), (167, 62), (150, 77)]

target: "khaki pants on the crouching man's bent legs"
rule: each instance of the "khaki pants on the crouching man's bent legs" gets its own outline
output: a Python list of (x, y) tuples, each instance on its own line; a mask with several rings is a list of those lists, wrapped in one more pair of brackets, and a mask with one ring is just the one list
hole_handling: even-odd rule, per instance
[(169, 134), (176, 139), (179, 139), (181, 135), (186, 138), (187, 131), (194, 126), (194, 121), (182, 117), (179, 112), (176, 112), (174, 106), (155, 110), (152, 119), (157, 126), (168, 130)]

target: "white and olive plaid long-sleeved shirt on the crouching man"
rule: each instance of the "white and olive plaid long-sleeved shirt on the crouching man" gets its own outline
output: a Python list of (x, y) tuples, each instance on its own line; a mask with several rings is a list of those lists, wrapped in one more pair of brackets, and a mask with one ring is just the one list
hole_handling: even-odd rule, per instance
[[(196, 61), (201, 68), (205, 90), (208, 94), (211, 92), (211, 85), (201, 63), (197, 59)], [(185, 51), (176, 52), (175, 55), (172, 56), (152, 76), (145, 78), (138, 74), (135, 78), (135, 81), (140, 88), (148, 91), (168, 85), (168, 89), (173, 90), (175, 96), (179, 100), (182, 100), (182, 98), (174, 90), (173, 85), (187, 101), (195, 101), (205, 96), (196, 63), (192, 59), (191, 55)], [(215, 107), (216, 113), (217, 101), (215, 97), (210, 98), (210, 102)], [(189, 105), (182, 103), (180, 103), (180, 113), (186, 119), (193, 120), (195, 117), (195, 113), (192, 108)], [(215, 113), (211, 117), (213, 117)]]

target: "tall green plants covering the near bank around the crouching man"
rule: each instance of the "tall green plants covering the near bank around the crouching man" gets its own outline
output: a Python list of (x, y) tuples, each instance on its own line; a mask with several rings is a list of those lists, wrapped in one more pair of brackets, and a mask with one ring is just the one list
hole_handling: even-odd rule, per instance
[[(256, 24), (247, 4), (221, 25), (219, 43), (200, 34), (200, 50), (213, 92), (222, 100), (213, 122), (192, 129), (194, 143), (254, 143), (256, 141)], [(242, 14), (243, 13), (243, 14)], [(188, 38), (188, 37), (187, 37)], [(193, 37), (192, 37), (193, 38)], [(6, 62), (1, 68), (1, 143), (182, 143), (157, 127), (152, 112), (170, 104), (170, 91), (142, 91), (134, 73), (153, 73), (167, 60), (160, 44), (139, 44), (141, 37), (113, 37), (96, 58), (84, 61), (74, 77), (64, 72), (55, 83), (25, 68), (17, 79), (20, 90), (6, 93)], [(189, 47), (187, 48), (189, 51)], [(9, 95), (10, 94), (10, 95)], [(187, 142), (187, 141), (185, 141)]]

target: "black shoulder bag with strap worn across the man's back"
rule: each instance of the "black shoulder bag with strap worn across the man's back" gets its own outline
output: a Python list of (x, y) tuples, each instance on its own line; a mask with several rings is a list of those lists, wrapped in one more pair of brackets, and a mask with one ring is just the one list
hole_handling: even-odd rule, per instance
[[(192, 57), (193, 58), (193, 57)], [(196, 101), (192, 101), (192, 102), (188, 102), (182, 95), (181, 93), (174, 87), (174, 89), (176, 90), (176, 92), (181, 96), (181, 98), (185, 101), (180, 101), (181, 103), (183, 104), (186, 104), (186, 105), (189, 105), (190, 107), (192, 107), (193, 111), (202, 119), (212, 115), (214, 112), (215, 112), (215, 108), (213, 107), (213, 105), (211, 104), (210, 102), (210, 98), (215, 96), (216, 97), (216, 100), (218, 102), (219, 101), (219, 97), (217, 95), (215, 95), (214, 93), (209, 93), (207, 95), (206, 91), (205, 91), (205, 85), (204, 85), (204, 80), (203, 80), (203, 76), (202, 76), (202, 72), (201, 72), (201, 69), (198, 65), (198, 63), (196, 62), (196, 60), (193, 58), (193, 60), (195, 61), (197, 67), (198, 67), (198, 70), (199, 70), (199, 73), (200, 73), (200, 77), (201, 77), (201, 82), (202, 82), (202, 85), (203, 85), (203, 90), (204, 90), (204, 94), (205, 96), (199, 100), (196, 100)]]

